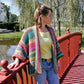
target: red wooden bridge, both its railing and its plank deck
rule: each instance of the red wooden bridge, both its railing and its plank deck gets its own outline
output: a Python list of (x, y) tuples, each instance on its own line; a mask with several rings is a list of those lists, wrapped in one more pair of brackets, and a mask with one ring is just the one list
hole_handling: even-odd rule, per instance
[[(64, 57), (59, 59), (60, 84), (84, 84), (84, 53), (81, 53), (82, 32), (69, 32), (57, 38)], [(28, 74), (28, 61), (20, 63), (19, 67), (8, 69), (8, 61), (0, 62), (0, 84), (36, 84), (34, 77)], [(48, 84), (48, 82), (47, 82)], [(53, 84), (53, 83), (52, 83)]]

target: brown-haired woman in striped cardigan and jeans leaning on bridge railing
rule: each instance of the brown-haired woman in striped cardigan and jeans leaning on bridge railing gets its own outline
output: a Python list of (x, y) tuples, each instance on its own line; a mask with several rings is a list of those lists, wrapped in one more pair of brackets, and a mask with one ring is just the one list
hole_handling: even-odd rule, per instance
[[(30, 75), (34, 75), (37, 84), (59, 84), (58, 59), (63, 56), (54, 30), (48, 24), (52, 21), (52, 9), (41, 5), (34, 13), (35, 26), (23, 34), (10, 67), (17, 67), (20, 61), (29, 59)], [(33, 70), (33, 71), (32, 71)], [(35, 75), (36, 74), (36, 75)]]

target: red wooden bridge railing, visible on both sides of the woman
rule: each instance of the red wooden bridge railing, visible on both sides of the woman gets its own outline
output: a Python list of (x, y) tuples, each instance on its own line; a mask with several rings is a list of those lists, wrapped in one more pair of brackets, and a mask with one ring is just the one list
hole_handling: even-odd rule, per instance
[[(59, 59), (61, 69), (58, 74), (61, 81), (73, 60), (81, 52), (82, 32), (69, 33), (69, 29), (67, 29), (67, 33), (57, 39), (64, 54), (64, 57)], [(36, 84), (34, 77), (28, 74), (28, 60), (11, 70), (7, 68), (7, 60), (2, 60), (0, 64), (3, 67), (0, 71), (0, 84)]]

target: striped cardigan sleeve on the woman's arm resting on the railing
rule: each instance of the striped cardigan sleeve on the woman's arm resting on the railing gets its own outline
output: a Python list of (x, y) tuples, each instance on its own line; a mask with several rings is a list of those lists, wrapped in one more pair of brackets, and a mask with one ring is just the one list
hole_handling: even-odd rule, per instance
[(25, 61), (25, 59), (28, 58), (28, 52), (29, 52), (28, 43), (29, 43), (28, 30), (26, 30), (26, 32), (24, 32), (24, 34), (21, 37), (21, 40), (19, 41), (17, 45), (15, 53), (12, 56), (13, 59), (17, 57), (21, 61)]

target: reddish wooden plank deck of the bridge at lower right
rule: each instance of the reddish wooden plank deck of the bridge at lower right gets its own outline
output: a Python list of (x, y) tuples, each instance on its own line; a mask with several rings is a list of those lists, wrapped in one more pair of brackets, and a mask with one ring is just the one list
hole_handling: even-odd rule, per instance
[(84, 52), (75, 59), (61, 84), (84, 84)]

